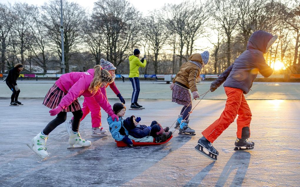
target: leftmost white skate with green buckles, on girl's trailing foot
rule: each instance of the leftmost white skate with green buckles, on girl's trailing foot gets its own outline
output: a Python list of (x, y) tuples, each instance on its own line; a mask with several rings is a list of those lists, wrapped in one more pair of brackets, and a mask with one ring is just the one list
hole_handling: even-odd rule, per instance
[(46, 158), (48, 156), (48, 152), (46, 151), (46, 141), (48, 139), (47, 135), (44, 135), (42, 133), (38, 133), (37, 136), (35, 136), (30, 144), (27, 144), (27, 146), (33, 150), (39, 157)]

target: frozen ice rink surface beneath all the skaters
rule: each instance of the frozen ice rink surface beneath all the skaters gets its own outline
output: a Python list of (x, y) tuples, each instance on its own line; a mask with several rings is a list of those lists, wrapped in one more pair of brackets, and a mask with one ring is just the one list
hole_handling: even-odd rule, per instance
[[(17, 81), (23, 106), (9, 106), (11, 92), (0, 83), (0, 186), (299, 186), (300, 184), (300, 83), (254, 83), (245, 95), (252, 112), (251, 138), (255, 148), (235, 152), (236, 121), (214, 142), (216, 162), (195, 151), (201, 132), (224, 109), (223, 86), (208, 92), (195, 107), (189, 126), (196, 136), (178, 135), (157, 146), (118, 148), (112, 136), (92, 138), (91, 116), (80, 124), (82, 138), (92, 142), (85, 149), (68, 148), (64, 124), (49, 135), (49, 157), (42, 160), (26, 144), (54, 117), (42, 105), (54, 81)], [(211, 82), (197, 85), (199, 94)], [(130, 82), (117, 82), (130, 107)], [(107, 88), (111, 104), (119, 102)], [(171, 102), (168, 84), (141, 82), (139, 104), (144, 110), (126, 110), (142, 118), (141, 124), (156, 120), (170, 127), (181, 110)], [(193, 106), (199, 100), (193, 101)], [(83, 102), (83, 98), (79, 99)], [(68, 113), (67, 121), (71, 118)], [(107, 114), (102, 112), (104, 129)], [(173, 125), (174, 127), (174, 125)], [(170, 130), (175, 129), (171, 127)]]

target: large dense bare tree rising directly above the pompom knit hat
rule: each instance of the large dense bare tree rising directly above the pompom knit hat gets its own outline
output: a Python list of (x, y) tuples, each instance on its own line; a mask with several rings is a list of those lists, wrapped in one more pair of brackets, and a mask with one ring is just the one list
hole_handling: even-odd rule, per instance
[(139, 40), (141, 14), (126, 0), (98, 0), (92, 18), (104, 33), (107, 60), (119, 66)]

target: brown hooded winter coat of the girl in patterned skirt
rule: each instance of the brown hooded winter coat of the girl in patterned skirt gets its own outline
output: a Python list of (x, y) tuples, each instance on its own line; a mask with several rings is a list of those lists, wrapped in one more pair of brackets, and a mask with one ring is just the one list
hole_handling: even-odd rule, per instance
[(201, 54), (199, 54), (199, 53), (190, 55), (188, 60), (191, 60), (191, 61), (195, 62), (196, 64), (192, 63), (190, 61), (182, 64), (179, 72), (173, 79), (173, 83), (175, 83), (175, 82), (182, 83), (187, 88), (189, 88), (190, 91), (193, 92), (193, 91), (197, 91), (196, 79), (200, 75), (203, 60), (202, 60)]

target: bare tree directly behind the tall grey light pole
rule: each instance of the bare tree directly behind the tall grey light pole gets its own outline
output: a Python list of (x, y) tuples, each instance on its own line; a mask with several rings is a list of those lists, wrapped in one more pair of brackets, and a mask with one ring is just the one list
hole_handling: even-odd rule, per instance
[[(76, 51), (82, 42), (82, 25), (84, 24), (85, 10), (77, 3), (63, 2), (63, 23), (64, 23), (64, 62), (65, 72), (69, 72), (69, 59), (71, 52)], [(51, 0), (41, 7), (43, 11), (42, 19), (47, 29), (51, 49), (58, 53), (61, 59), (61, 32), (60, 26), (60, 1)]]

